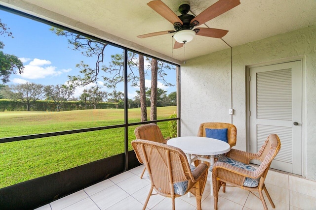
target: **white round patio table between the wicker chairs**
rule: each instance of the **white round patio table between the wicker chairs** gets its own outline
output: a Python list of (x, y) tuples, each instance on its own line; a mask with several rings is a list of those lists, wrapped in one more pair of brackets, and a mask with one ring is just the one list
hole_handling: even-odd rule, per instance
[[(199, 159), (210, 162), (211, 165), (213, 165), (214, 156), (216, 154), (223, 154), (231, 150), (231, 146), (224, 141), (199, 136), (181, 136), (172, 138), (167, 141), (167, 145), (177, 147), (186, 153), (189, 164), (191, 164), (192, 161)], [(203, 158), (204, 155), (210, 155), (211, 158)], [(210, 188), (211, 195), (213, 196), (212, 174), (210, 175)]]

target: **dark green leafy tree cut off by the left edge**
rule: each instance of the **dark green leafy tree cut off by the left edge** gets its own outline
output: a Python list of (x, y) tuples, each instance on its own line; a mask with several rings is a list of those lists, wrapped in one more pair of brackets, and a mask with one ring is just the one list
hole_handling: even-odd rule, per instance
[[(8, 31), (9, 28), (6, 28), (6, 24), (3, 24), (0, 20), (0, 35), (7, 35), (12, 36), (12, 32)], [(3, 49), (4, 44), (0, 41), (0, 49)], [(2, 51), (0, 51), (0, 80), (3, 84), (9, 82), (10, 75), (23, 73), (23, 63), (21, 60), (18, 59), (18, 57), (14, 55), (5, 54)]]

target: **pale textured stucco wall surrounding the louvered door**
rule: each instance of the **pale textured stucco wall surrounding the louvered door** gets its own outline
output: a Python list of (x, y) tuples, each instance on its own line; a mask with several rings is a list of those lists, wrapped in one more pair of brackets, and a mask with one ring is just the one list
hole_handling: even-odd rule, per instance
[(316, 26), (233, 47), (232, 74), (230, 55), (227, 49), (181, 66), (181, 135), (197, 135), (201, 122), (229, 122), (237, 127), (235, 148), (246, 150), (246, 66), (302, 58), (303, 173), (316, 180)]

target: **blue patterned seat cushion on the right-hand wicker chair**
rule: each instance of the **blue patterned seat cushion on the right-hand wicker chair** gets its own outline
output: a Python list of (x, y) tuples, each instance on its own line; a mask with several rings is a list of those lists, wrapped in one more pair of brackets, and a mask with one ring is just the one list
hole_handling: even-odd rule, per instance
[[(219, 162), (223, 162), (223, 163), (228, 163), (228, 164), (230, 164), (232, 166), (236, 166), (238, 168), (245, 169), (247, 171), (255, 171), (256, 170), (256, 168), (254, 168), (254, 167), (252, 167), (250, 165), (238, 162), (237, 160), (233, 160), (233, 159), (231, 159), (229, 157), (226, 157), (224, 155), (219, 155), (217, 162), (218, 161)], [(209, 170), (210, 170), (210, 172), (212, 172), (213, 166), (211, 166), (209, 168)], [(256, 187), (259, 184), (259, 180), (260, 180), (260, 178), (251, 179), (251, 178), (246, 177), (245, 181), (243, 182), (243, 186), (245, 186), (245, 187)]]

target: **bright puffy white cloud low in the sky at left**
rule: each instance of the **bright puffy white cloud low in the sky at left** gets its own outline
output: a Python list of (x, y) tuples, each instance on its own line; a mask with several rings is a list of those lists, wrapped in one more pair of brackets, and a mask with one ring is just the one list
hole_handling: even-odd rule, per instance
[(51, 64), (49, 60), (34, 59), (29, 64), (24, 65), (21, 77), (26, 79), (43, 79), (47, 76), (58, 76), (62, 74), (62, 71), (56, 70), (56, 66), (49, 64)]

